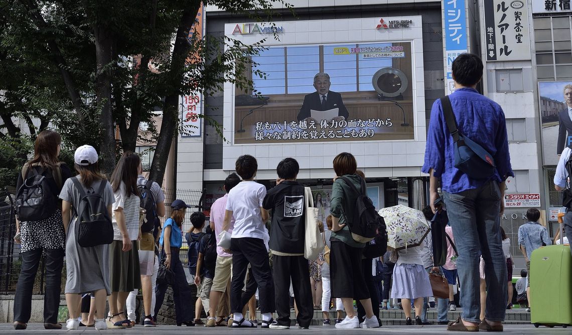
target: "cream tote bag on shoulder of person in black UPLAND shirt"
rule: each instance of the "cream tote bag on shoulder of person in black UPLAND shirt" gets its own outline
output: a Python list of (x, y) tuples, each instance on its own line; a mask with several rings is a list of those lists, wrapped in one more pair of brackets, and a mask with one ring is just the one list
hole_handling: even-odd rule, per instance
[(304, 258), (309, 261), (317, 260), (324, 251), (324, 238), (318, 227), (318, 209), (314, 207), (312, 190), (304, 188), (304, 207), (306, 212), (304, 230)]

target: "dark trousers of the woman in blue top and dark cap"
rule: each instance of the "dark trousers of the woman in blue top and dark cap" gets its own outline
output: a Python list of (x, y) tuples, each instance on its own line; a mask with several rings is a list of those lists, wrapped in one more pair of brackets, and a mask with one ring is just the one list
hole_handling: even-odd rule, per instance
[[(165, 252), (161, 252), (160, 259), (165, 258)], [(186, 282), (185, 270), (182, 268), (181, 259), (179, 258), (179, 248), (171, 247), (171, 270), (173, 270), (174, 283), (171, 285), (173, 288), (173, 300), (175, 302), (175, 314), (177, 324), (183, 322), (190, 322), (194, 320), (194, 304), (192, 303), (193, 297), (190, 294), (188, 282)], [(155, 314), (159, 313), (163, 300), (165, 299), (165, 292), (167, 284), (157, 282), (155, 286)]]

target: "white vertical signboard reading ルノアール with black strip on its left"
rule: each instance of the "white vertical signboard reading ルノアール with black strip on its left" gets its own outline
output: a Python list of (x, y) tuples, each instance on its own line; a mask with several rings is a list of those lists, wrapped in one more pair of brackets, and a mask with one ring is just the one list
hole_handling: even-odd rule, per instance
[(530, 59), (526, 0), (485, 0), (484, 32), (487, 61)]

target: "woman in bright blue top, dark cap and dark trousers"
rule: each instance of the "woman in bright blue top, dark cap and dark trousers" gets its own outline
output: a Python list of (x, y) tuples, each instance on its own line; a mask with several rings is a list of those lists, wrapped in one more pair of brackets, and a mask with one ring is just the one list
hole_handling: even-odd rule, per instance
[(182, 268), (181, 258), (179, 258), (179, 252), (182, 246), (181, 227), (182, 221), (185, 219), (187, 208), (190, 208), (190, 206), (185, 204), (182, 200), (177, 199), (171, 204), (171, 217), (165, 221), (159, 239), (159, 245), (162, 246), (159, 266), (170, 269), (173, 272), (173, 281), (166, 283), (157, 280), (157, 286), (155, 286), (157, 298), (155, 303), (155, 315), (159, 313), (163, 305), (167, 285), (172, 286), (177, 326), (194, 326), (191, 307), (192, 297), (189, 284), (186, 282), (185, 270)]

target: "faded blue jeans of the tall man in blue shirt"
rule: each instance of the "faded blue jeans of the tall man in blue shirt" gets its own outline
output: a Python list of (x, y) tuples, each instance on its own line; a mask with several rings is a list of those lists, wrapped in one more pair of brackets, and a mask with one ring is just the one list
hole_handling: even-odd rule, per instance
[(488, 292), (485, 317), (489, 321), (504, 321), (507, 269), (501, 241), (499, 184), (490, 181), (460, 193), (444, 192), (444, 200), (459, 251), (457, 269), (463, 320), (480, 321), (480, 250)]

